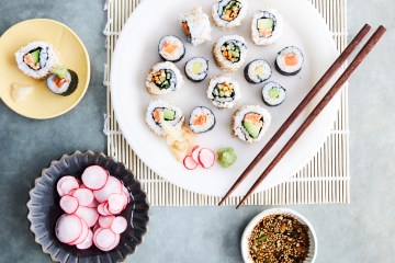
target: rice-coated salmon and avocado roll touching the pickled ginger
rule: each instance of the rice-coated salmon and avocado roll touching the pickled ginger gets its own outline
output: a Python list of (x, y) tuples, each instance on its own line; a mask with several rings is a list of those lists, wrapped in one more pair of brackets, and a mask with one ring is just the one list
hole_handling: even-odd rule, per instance
[(162, 123), (174, 127), (176, 129), (181, 130), (181, 126), (184, 123), (185, 117), (181, 108), (178, 106), (172, 105), (171, 103), (157, 100), (151, 101), (147, 108), (146, 113), (146, 122), (149, 128), (159, 136), (165, 136), (166, 132), (162, 128)]

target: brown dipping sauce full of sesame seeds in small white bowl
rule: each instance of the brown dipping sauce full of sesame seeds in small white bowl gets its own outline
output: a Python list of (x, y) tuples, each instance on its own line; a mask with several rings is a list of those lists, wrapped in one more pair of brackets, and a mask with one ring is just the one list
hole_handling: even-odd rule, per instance
[(248, 248), (256, 263), (302, 263), (308, 255), (308, 227), (283, 214), (263, 217), (252, 229)]

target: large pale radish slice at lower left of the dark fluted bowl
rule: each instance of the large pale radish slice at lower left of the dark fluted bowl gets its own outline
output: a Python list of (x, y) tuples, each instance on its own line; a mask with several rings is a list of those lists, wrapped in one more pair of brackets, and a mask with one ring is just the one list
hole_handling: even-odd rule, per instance
[(81, 219), (76, 215), (61, 215), (56, 221), (55, 235), (63, 243), (70, 243), (82, 233)]

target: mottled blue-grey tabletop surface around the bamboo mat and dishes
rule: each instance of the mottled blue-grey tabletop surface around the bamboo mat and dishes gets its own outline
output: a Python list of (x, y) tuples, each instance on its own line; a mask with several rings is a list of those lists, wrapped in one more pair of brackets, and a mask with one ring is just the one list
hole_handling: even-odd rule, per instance
[[(351, 204), (291, 208), (314, 225), (318, 263), (394, 262), (395, 248), (395, 2), (348, 0), (350, 38), (366, 22), (388, 28), (383, 42), (350, 81)], [(0, 103), (0, 262), (50, 262), (29, 231), (27, 191), (42, 168), (74, 150), (105, 150), (103, 1), (0, 1), (0, 34), (32, 18), (66, 23), (86, 43), (92, 61), (87, 95), (68, 114), (31, 121)], [(1, 69), (0, 69), (1, 70)], [(1, 81), (1, 80), (0, 80)], [(268, 207), (150, 209), (144, 244), (127, 262), (241, 262), (239, 239), (247, 222)]]

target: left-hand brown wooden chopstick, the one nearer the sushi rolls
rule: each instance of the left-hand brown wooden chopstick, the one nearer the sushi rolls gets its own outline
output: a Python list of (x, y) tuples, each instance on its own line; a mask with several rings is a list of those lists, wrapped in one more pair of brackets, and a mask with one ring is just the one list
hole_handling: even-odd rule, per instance
[(263, 147), (263, 149), (258, 153), (258, 156), (252, 160), (252, 162), (246, 168), (241, 175), (236, 180), (232, 185), (229, 191), (225, 194), (218, 205), (222, 205), (227, 197), (237, 188), (237, 186), (248, 176), (252, 169), (259, 163), (259, 161), (266, 156), (266, 153), (273, 147), (273, 145), (279, 140), (279, 138), (289, 129), (292, 123), (301, 115), (301, 113), (306, 108), (306, 106), (312, 102), (312, 100), (317, 95), (317, 93), (323, 89), (323, 87), (328, 82), (328, 80), (340, 69), (341, 65), (350, 57), (357, 46), (363, 41), (363, 38), (370, 32), (371, 26), (365, 24), (362, 30), (357, 34), (348, 47), (341, 53), (341, 55), (336, 59), (336, 61), (330, 66), (330, 68), (324, 73), (324, 76), (318, 80), (318, 82), (313, 87), (308, 94), (303, 99), (298, 106), (293, 111), (293, 113), (287, 117), (284, 124), (280, 129), (273, 135), (269, 142)]

